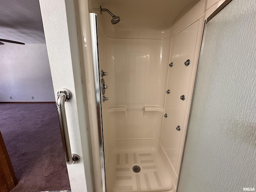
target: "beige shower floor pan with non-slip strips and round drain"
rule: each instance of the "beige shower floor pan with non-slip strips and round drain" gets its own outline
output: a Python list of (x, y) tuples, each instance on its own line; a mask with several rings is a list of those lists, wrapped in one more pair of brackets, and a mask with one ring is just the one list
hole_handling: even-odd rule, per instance
[(112, 141), (105, 167), (108, 192), (175, 191), (171, 177), (172, 166), (157, 140)]

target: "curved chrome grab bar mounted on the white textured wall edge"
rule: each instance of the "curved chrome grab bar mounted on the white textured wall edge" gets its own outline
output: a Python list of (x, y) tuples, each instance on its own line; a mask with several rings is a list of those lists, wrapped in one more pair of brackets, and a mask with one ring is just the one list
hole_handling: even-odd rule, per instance
[(79, 156), (71, 153), (69, 135), (68, 135), (68, 124), (65, 111), (65, 101), (70, 100), (71, 92), (68, 89), (61, 89), (57, 93), (57, 112), (60, 123), (60, 134), (62, 138), (62, 145), (65, 155), (66, 164), (75, 164), (79, 162)]

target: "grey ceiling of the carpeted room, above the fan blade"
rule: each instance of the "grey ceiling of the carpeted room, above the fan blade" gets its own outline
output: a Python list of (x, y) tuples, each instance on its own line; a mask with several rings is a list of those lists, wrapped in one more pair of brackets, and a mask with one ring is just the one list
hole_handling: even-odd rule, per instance
[(0, 38), (45, 44), (39, 1), (0, 0)]

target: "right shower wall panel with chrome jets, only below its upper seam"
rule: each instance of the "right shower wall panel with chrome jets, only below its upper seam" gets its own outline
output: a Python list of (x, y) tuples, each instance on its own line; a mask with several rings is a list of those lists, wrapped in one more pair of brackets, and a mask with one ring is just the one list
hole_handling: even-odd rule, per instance
[[(177, 175), (180, 170), (179, 157), (182, 156), (203, 26), (204, 18), (201, 18), (172, 37), (170, 62), (173, 62), (173, 66), (169, 68), (166, 89), (170, 90), (170, 94), (166, 95), (165, 103), (165, 113), (168, 117), (163, 121), (161, 144)], [(188, 59), (190, 64), (186, 66), (184, 62)], [(180, 99), (182, 95), (185, 100)], [(176, 130), (178, 126), (180, 131)]]

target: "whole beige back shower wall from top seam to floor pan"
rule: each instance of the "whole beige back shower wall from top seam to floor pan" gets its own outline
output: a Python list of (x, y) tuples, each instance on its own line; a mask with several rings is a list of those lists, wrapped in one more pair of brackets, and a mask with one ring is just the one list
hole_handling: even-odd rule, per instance
[(171, 39), (105, 38), (108, 131), (114, 139), (160, 142)]

